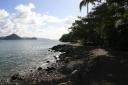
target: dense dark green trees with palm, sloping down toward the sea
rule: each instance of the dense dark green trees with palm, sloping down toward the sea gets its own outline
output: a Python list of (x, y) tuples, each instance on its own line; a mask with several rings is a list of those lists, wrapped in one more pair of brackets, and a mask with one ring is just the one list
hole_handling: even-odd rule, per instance
[(69, 34), (61, 37), (64, 42), (81, 42), (118, 50), (128, 50), (128, 1), (83, 0), (82, 6), (93, 4), (93, 11), (79, 17), (69, 28)]

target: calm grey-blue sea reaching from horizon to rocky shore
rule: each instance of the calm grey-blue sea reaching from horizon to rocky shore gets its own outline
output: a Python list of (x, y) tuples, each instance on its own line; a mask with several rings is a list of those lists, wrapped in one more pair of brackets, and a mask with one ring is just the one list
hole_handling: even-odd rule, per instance
[(15, 73), (25, 73), (54, 61), (48, 48), (59, 44), (50, 40), (0, 40), (0, 78), (8, 78)]

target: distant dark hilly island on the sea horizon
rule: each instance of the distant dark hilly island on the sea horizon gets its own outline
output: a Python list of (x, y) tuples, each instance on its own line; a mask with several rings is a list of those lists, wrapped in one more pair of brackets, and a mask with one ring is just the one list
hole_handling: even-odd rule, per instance
[(36, 37), (20, 37), (17, 34), (11, 34), (5, 37), (0, 37), (0, 40), (36, 40)]

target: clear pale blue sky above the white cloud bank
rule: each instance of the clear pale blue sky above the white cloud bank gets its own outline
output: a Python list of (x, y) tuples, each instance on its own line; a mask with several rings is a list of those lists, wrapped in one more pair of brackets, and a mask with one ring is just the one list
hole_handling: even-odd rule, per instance
[(84, 16), (85, 11), (80, 13), (80, 0), (1, 0), (0, 9), (14, 12), (14, 8), (19, 4), (33, 3), (36, 6), (35, 11), (39, 13), (48, 13), (52, 16)]

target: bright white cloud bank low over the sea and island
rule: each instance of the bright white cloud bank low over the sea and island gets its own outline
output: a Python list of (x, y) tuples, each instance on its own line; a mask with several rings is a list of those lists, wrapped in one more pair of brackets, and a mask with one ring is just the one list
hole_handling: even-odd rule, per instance
[(22, 37), (40, 37), (59, 39), (62, 34), (68, 33), (68, 28), (76, 17), (59, 18), (47, 13), (33, 11), (35, 5), (20, 4), (15, 7), (15, 13), (0, 10), (0, 36), (16, 33)]

